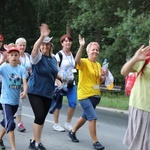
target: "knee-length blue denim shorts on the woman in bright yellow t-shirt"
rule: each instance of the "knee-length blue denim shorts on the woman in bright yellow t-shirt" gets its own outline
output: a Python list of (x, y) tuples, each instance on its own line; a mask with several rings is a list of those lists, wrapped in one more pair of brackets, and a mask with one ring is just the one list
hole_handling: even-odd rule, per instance
[(99, 97), (89, 97), (86, 99), (82, 99), (79, 100), (80, 105), (83, 109), (83, 113), (81, 115), (82, 118), (86, 119), (86, 120), (96, 120), (97, 119), (97, 115), (95, 112), (95, 108), (98, 105), (98, 103), (100, 102), (101, 98)]

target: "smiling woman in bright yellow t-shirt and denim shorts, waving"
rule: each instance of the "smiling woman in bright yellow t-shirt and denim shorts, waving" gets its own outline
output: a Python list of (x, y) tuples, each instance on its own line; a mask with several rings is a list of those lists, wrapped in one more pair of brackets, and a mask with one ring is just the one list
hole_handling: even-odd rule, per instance
[[(80, 47), (76, 54), (76, 68), (79, 70), (79, 80), (77, 88), (77, 96), (80, 105), (83, 109), (82, 115), (69, 131), (69, 137), (72, 142), (79, 142), (76, 138), (76, 131), (84, 125), (86, 121), (89, 122), (89, 132), (93, 142), (93, 148), (103, 150), (104, 146), (98, 141), (96, 135), (96, 112), (95, 108), (100, 102), (100, 82), (102, 77), (101, 65), (96, 61), (99, 55), (99, 44), (91, 42), (87, 45), (86, 52), (88, 58), (81, 58), (82, 51), (85, 45), (84, 38), (79, 35)], [(106, 71), (106, 74), (108, 72)]]

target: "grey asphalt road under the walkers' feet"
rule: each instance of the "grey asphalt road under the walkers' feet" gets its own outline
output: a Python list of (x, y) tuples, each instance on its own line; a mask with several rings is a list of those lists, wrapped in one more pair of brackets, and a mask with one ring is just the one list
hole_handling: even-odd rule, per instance
[[(97, 108), (97, 135), (99, 141), (105, 146), (105, 150), (127, 150), (128, 148), (122, 144), (122, 139), (127, 127), (127, 114), (118, 111), (104, 110)], [(60, 124), (63, 126), (66, 119), (67, 104), (63, 104), (60, 114)], [(75, 123), (81, 114), (81, 108), (78, 105), (72, 124)], [(15, 130), (16, 150), (28, 150), (29, 139), (32, 138), (33, 112), (28, 100), (23, 102), (23, 122), (27, 128), (25, 133)], [(68, 132), (56, 132), (52, 129), (53, 115), (48, 114), (43, 129), (42, 143), (47, 150), (91, 150), (92, 141), (88, 131), (88, 122), (79, 129), (77, 138), (79, 143), (73, 143), (68, 137)], [(7, 150), (10, 150), (8, 135), (5, 135), (4, 143)]]

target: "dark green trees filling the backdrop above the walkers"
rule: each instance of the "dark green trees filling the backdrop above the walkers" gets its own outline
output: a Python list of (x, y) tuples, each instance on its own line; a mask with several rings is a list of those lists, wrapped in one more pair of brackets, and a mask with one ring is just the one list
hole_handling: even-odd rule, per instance
[[(109, 61), (116, 84), (124, 84), (122, 65), (150, 35), (149, 0), (1, 0), (0, 33), (6, 43), (25, 37), (28, 52), (39, 36), (39, 25), (47, 23), (53, 36), (54, 53), (61, 49), (63, 34), (73, 37), (73, 51), (79, 47), (78, 34), (86, 44), (97, 41), (99, 62)], [(86, 56), (86, 52), (83, 56)]]

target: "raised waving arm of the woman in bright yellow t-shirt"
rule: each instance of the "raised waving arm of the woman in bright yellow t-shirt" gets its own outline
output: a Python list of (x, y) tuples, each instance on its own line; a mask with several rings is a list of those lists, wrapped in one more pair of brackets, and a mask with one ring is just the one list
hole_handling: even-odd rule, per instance
[(80, 65), (81, 64), (82, 51), (83, 51), (83, 48), (85, 45), (85, 40), (84, 40), (84, 38), (81, 37), (80, 34), (79, 34), (79, 44), (80, 44), (80, 47), (79, 47), (78, 52), (76, 54), (75, 62), (76, 62), (76, 64), (78, 63)]

